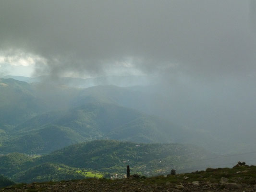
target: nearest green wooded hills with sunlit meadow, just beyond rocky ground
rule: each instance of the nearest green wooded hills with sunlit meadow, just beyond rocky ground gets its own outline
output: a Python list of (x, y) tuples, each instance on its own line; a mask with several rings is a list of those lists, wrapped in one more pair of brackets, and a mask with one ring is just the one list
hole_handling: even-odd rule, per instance
[[(0, 156), (0, 172), (16, 182), (71, 180), (86, 177), (122, 177), (126, 165), (132, 173), (158, 175), (172, 168), (184, 171), (195, 160), (214, 157), (201, 148), (183, 144), (136, 144), (97, 140), (74, 144), (45, 156)], [(190, 163), (186, 163), (193, 160)], [(201, 163), (207, 167), (206, 163)]]

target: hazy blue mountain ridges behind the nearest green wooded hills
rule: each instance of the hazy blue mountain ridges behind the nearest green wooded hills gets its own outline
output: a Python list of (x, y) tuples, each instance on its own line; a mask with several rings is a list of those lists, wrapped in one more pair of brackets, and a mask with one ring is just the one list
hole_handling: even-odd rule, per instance
[(202, 132), (122, 107), (143, 99), (140, 92), (129, 88), (108, 85), (77, 89), (13, 79), (0, 79), (0, 83), (0, 153), (45, 154), (70, 144), (107, 138), (201, 146), (215, 142)]

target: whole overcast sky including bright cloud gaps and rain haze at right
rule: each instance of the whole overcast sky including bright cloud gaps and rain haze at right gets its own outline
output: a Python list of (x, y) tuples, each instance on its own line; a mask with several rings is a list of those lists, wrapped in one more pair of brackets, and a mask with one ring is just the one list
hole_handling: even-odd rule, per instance
[(0, 0), (9, 74), (143, 75), (149, 113), (255, 148), (256, 0)]

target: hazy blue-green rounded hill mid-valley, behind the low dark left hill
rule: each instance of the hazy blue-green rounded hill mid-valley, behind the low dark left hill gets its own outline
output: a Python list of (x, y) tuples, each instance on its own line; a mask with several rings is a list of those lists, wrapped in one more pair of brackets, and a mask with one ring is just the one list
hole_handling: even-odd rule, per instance
[(134, 109), (95, 102), (64, 111), (52, 111), (39, 115), (16, 127), (15, 131), (27, 132), (54, 124), (70, 127), (85, 137), (99, 137), (102, 133), (107, 133), (141, 115)]

